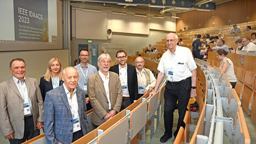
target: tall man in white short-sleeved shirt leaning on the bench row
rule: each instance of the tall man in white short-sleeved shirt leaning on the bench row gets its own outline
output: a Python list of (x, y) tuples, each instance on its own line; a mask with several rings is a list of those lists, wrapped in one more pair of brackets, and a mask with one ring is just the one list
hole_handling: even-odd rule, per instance
[(167, 76), (166, 90), (164, 91), (164, 128), (166, 131), (160, 142), (167, 142), (172, 137), (173, 112), (178, 100), (179, 120), (174, 137), (177, 136), (180, 126), (185, 128), (183, 121), (189, 98), (196, 97), (196, 64), (190, 49), (177, 46), (178, 36), (174, 33), (166, 35), (166, 45), (169, 50), (164, 52), (157, 67), (157, 76), (154, 94), (157, 92), (164, 76)]

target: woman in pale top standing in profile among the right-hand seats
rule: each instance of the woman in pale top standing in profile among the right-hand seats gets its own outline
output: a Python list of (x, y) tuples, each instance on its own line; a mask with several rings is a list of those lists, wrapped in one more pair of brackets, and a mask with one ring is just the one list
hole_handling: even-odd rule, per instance
[[(234, 74), (233, 62), (230, 60), (230, 58), (226, 57), (227, 54), (228, 52), (225, 51), (224, 49), (219, 49), (217, 50), (216, 56), (218, 60), (221, 61), (220, 71), (227, 74), (228, 81), (230, 81), (232, 88), (234, 88), (237, 83), (237, 78), (236, 78), (236, 74)], [(214, 68), (209, 66), (207, 67), (207, 70), (214, 70)]]

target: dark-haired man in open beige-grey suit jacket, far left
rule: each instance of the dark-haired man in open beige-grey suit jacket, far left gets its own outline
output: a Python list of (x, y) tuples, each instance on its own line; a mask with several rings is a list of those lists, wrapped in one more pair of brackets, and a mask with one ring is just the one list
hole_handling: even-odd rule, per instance
[(0, 83), (0, 129), (10, 143), (22, 143), (40, 134), (44, 103), (38, 81), (25, 77), (22, 58), (10, 61), (13, 77)]

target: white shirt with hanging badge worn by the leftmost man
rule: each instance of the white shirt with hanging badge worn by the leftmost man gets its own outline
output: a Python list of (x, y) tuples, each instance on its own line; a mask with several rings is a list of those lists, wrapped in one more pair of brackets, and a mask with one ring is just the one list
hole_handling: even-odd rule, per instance
[(19, 90), (19, 93), (22, 96), (24, 104), (25, 103), (29, 103), (29, 108), (30, 108), (31, 114), (28, 114), (26, 116), (32, 115), (33, 114), (33, 109), (32, 109), (31, 100), (29, 98), (28, 88), (26, 87), (26, 79), (25, 79), (25, 77), (23, 79), (23, 82), (20, 81), (18, 78), (15, 78), (15, 77), (13, 77), (13, 80), (14, 80), (14, 82), (15, 82), (18, 90)]

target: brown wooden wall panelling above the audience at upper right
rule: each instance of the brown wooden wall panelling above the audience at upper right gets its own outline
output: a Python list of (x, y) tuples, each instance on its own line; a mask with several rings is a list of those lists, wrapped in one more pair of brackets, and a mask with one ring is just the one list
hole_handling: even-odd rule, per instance
[[(222, 26), (237, 23), (246, 23), (256, 20), (255, 0), (236, 0), (219, 4), (214, 11), (202, 12), (194, 10), (186, 13), (179, 13), (177, 17), (176, 31), (188, 25), (188, 30)], [(215, 22), (215, 24), (212, 24)], [(201, 24), (201, 25), (199, 25)]]

